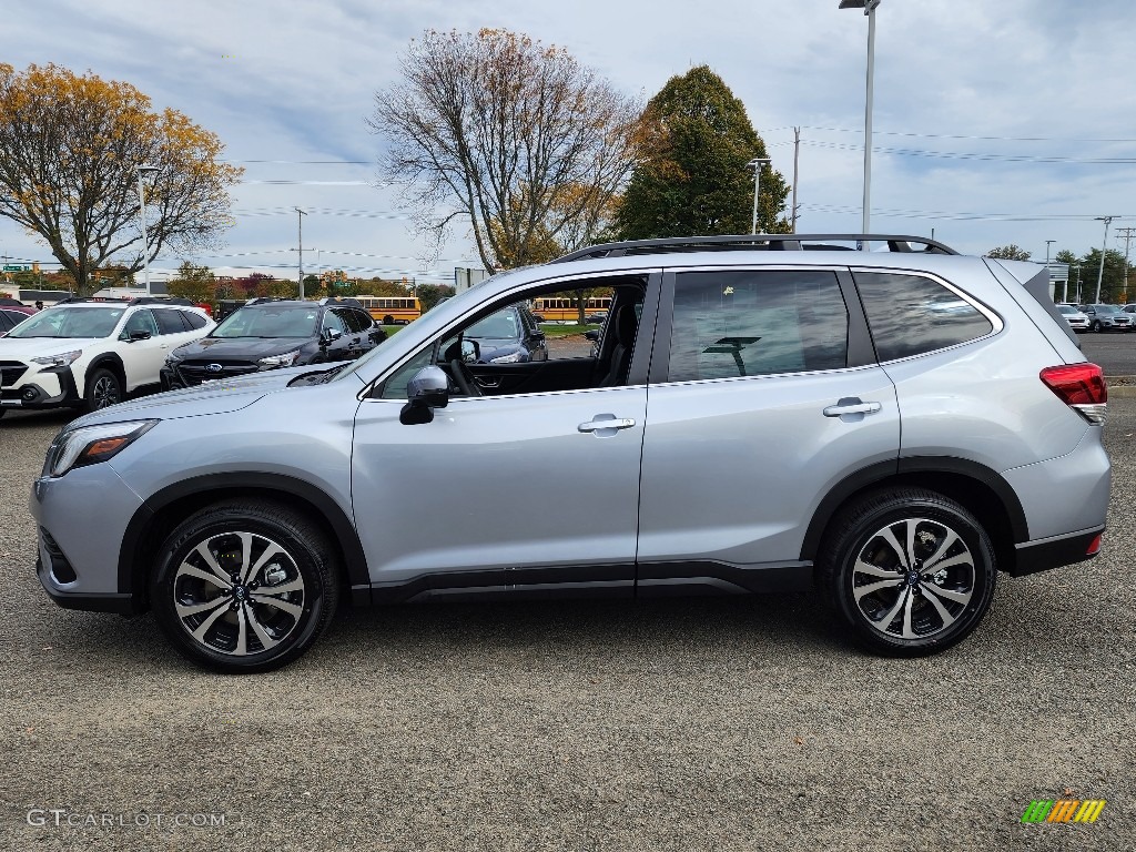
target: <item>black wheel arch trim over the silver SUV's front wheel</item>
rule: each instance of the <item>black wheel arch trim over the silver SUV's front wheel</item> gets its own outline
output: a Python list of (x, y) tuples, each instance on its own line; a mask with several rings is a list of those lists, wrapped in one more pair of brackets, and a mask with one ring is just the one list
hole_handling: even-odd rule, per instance
[[(167, 507), (192, 496), (209, 495), (208, 502), (224, 499), (226, 492), (257, 493), (267, 499), (283, 494), (299, 498), (314, 506), (319, 511), (336, 542), (343, 551), (344, 570), (348, 585), (352, 587), (369, 586), (370, 574), (367, 557), (359, 541), (359, 534), (350, 518), (326, 492), (311, 483), (272, 473), (224, 473), (194, 476), (156, 492), (134, 512), (118, 551), (118, 588), (127, 592), (134, 599), (135, 608), (141, 608), (145, 588), (144, 554), (141, 549), (147, 545), (158, 545), (160, 542), (149, 541), (151, 525), (157, 516)], [(179, 523), (179, 521), (178, 521)], [(358, 594), (352, 594), (353, 602), (364, 603)]]

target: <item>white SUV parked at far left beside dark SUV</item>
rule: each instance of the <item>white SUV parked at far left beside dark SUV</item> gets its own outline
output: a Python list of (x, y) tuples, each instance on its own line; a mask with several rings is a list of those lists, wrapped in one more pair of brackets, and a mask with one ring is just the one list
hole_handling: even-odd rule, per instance
[(158, 385), (170, 351), (216, 324), (166, 299), (72, 301), (40, 311), (0, 339), (0, 417), (11, 409), (94, 411)]

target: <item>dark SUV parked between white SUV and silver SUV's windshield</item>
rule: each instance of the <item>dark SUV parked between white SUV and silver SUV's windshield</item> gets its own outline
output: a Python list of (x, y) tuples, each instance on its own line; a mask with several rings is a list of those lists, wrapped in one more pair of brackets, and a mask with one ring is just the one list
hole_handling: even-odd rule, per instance
[(353, 299), (258, 300), (229, 314), (209, 335), (170, 352), (161, 386), (191, 387), (277, 367), (350, 361), (384, 340), (386, 333)]

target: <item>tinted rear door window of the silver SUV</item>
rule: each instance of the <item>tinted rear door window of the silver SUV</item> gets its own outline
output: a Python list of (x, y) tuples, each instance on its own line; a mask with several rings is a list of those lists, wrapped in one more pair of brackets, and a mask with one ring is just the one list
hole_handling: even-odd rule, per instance
[(833, 272), (680, 273), (668, 381), (838, 369), (847, 332)]

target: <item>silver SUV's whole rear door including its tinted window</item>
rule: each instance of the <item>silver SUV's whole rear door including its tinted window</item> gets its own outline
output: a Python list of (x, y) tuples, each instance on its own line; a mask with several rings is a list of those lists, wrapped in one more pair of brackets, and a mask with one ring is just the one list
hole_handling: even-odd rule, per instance
[[(845, 476), (895, 463), (895, 389), (847, 270), (665, 276), (643, 444), (638, 587), (808, 577), (805, 529)], [(849, 309), (851, 306), (852, 310)]]

